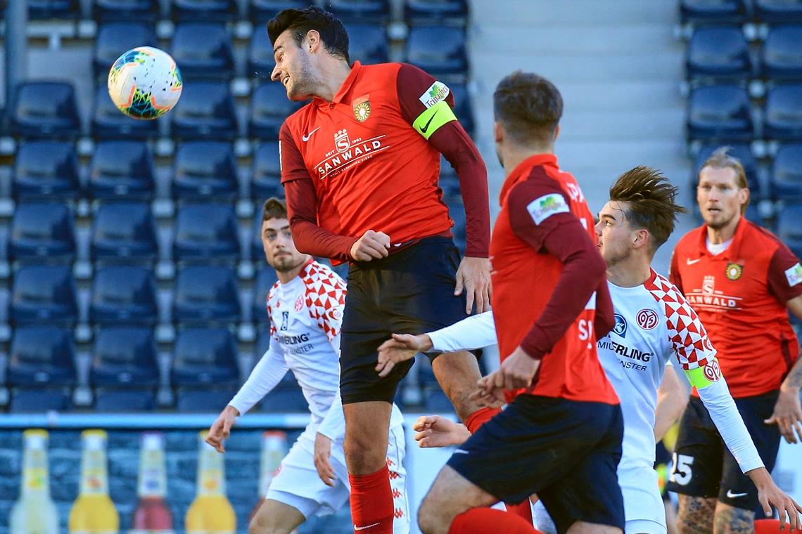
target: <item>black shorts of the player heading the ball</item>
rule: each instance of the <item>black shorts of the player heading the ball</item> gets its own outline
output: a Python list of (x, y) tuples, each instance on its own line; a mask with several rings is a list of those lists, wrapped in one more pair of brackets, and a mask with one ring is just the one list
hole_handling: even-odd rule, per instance
[[(460, 252), (451, 238), (430, 237), (370, 262), (351, 263), (340, 338), (342, 403), (392, 402), (414, 360), (379, 378), (379, 345), (395, 334), (423, 334), (466, 317), (465, 294), (454, 296)], [(439, 353), (428, 353), (431, 359)]]

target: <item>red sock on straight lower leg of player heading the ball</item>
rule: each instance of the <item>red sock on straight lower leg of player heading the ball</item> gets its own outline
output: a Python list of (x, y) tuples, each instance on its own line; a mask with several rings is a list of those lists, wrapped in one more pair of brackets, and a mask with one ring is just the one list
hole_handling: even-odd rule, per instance
[(392, 534), (393, 493), (387, 465), (370, 475), (351, 475), (351, 520), (359, 534)]

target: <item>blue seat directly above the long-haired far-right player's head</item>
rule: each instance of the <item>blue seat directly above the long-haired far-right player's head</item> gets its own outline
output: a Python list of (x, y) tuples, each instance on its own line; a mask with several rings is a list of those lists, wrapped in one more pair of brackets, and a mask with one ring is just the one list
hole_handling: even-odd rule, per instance
[(691, 139), (750, 141), (752, 113), (742, 87), (698, 87), (688, 98), (687, 130)]

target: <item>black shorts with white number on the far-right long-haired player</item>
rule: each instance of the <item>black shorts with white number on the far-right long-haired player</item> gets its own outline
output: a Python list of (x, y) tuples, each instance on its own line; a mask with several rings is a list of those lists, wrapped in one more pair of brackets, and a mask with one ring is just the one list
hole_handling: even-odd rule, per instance
[[(764, 424), (764, 420), (772, 416), (778, 392), (735, 399), (735, 406), (769, 472), (777, 460), (780, 430), (776, 424)], [(755, 484), (741, 472), (707, 408), (696, 397), (691, 398), (679, 423), (674, 468), (667, 488), (683, 495), (718, 499), (744, 510), (759, 508)]]

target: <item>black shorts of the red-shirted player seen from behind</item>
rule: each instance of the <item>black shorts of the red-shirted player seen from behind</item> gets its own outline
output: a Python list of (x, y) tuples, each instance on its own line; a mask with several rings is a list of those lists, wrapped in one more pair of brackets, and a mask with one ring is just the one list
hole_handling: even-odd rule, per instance
[(623, 529), (623, 436), (618, 404), (518, 395), (448, 465), (505, 503), (537, 493), (558, 532), (576, 521)]

